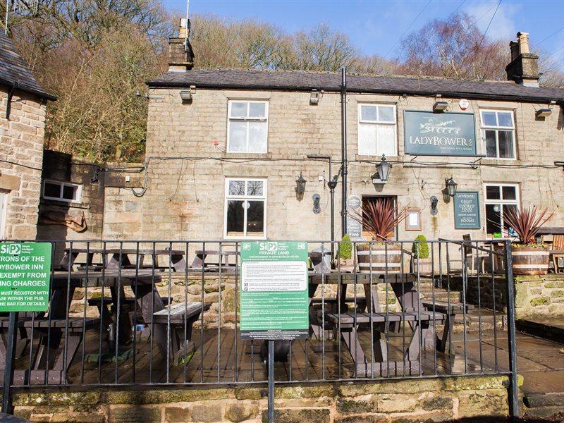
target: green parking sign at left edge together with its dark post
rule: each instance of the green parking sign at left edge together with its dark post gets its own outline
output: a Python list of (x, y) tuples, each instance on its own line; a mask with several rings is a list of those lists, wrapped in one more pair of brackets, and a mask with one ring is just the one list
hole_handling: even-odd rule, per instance
[(51, 243), (0, 243), (0, 312), (10, 312), (2, 412), (13, 412), (13, 384), (18, 312), (49, 309)]

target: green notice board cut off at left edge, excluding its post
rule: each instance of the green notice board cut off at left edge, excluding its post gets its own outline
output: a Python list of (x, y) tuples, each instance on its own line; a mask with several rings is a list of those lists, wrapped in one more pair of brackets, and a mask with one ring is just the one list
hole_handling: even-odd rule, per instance
[(0, 312), (46, 312), (50, 243), (0, 243)]

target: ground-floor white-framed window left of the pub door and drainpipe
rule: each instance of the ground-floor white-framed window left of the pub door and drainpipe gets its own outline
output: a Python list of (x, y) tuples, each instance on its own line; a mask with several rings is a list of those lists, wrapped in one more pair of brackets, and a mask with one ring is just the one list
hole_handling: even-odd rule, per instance
[(266, 238), (266, 179), (226, 178), (225, 238)]

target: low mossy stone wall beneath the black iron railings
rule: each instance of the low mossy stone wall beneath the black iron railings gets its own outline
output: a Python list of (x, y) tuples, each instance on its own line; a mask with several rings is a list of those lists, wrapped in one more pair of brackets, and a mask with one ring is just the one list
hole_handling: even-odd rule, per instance
[[(508, 416), (506, 376), (449, 377), (275, 389), (278, 423), (450, 422)], [(266, 422), (264, 387), (18, 393), (34, 422)]]

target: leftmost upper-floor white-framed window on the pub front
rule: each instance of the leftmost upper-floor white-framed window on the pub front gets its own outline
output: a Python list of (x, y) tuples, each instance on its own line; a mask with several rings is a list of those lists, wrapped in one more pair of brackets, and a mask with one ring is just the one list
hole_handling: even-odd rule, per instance
[(268, 149), (269, 103), (230, 100), (227, 109), (227, 152), (266, 153)]

